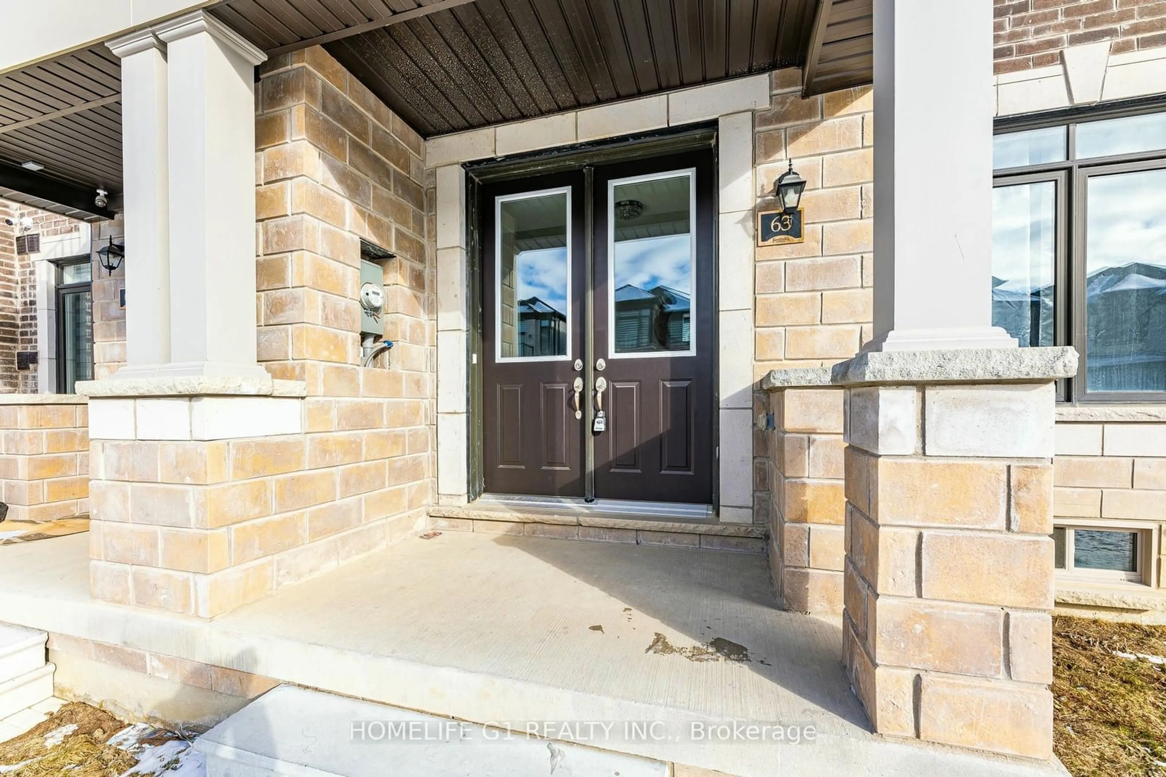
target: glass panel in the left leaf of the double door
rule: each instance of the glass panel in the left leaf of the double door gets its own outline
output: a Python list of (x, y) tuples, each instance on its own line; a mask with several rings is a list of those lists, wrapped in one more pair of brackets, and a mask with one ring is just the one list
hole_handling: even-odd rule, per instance
[(570, 191), (499, 197), (500, 360), (566, 359), (570, 341)]

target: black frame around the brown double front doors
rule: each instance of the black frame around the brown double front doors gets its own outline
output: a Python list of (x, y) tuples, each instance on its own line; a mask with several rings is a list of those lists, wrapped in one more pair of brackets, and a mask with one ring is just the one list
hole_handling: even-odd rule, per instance
[[(484, 245), (482, 235), (482, 218), (484, 213), (492, 212), (483, 203), (482, 195), (483, 188), (491, 183), (521, 179), (526, 177), (534, 177), (538, 175), (545, 175), (557, 171), (567, 170), (584, 170), (584, 191), (586, 202), (593, 202), (593, 183), (592, 175), (589, 168), (593, 168), (598, 164), (611, 164), (619, 162), (630, 162), (640, 158), (651, 158), (656, 156), (667, 156), (672, 154), (680, 154), (683, 151), (711, 149), (712, 150), (712, 165), (714, 175), (719, 170), (719, 149), (717, 144), (717, 122), (701, 122), (688, 125), (679, 128), (669, 128), (648, 133), (639, 133), (632, 135), (625, 135), (619, 137), (606, 139), (602, 141), (588, 142), (588, 143), (576, 143), (571, 146), (543, 149), (539, 151), (532, 151), (529, 154), (521, 154), (511, 157), (497, 157), (491, 160), (484, 160), (480, 162), (471, 162), (463, 165), (465, 182), (466, 182), (466, 204), (465, 204), (465, 219), (468, 225), (466, 235), (466, 247), (468, 247), (468, 277), (466, 277), (466, 311), (468, 311), (468, 348), (465, 353), (465, 365), (466, 365), (466, 408), (469, 410), (469, 429), (468, 429), (468, 479), (466, 485), (468, 497), (472, 502), (480, 497), (485, 493), (485, 460), (483, 455), (484, 451), (484, 424), (483, 424), (483, 390), (484, 379), (483, 379), (483, 366), (485, 359), (482, 358), (483, 351), (483, 324), (484, 324), (484, 299), (483, 299), (483, 264), (484, 264)], [(719, 188), (717, 185), (712, 186), (712, 199), (714, 199), (714, 214), (719, 212), (717, 206), (717, 198), (719, 196)], [(717, 219), (714, 218), (712, 222), (712, 246), (714, 246), (714, 262), (712, 262), (712, 284), (711, 294), (714, 299), (712, 309), (712, 354), (711, 363), (714, 370), (712, 381), (712, 407), (710, 412), (714, 414), (714, 418), (719, 419), (719, 381), (716, 379), (719, 375), (721, 363), (719, 363), (719, 316), (717, 315), (716, 301), (719, 299), (719, 241), (718, 241), (718, 224)], [(593, 275), (593, 240), (595, 240), (595, 224), (592, 209), (588, 207), (585, 212), (585, 224), (584, 224), (584, 256), (586, 262), (586, 276), (591, 277)], [(585, 308), (584, 316), (586, 320), (593, 318), (593, 298), (592, 295), (585, 295)], [(590, 355), (593, 352), (593, 342), (591, 338), (593, 333), (592, 327), (584, 327), (584, 352)], [(584, 386), (590, 388), (595, 386), (595, 365), (591, 359), (584, 359), (583, 372), (581, 373), (584, 380)], [(595, 403), (591, 401), (583, 402), (584, 408), (584, 429), (590, 430), (595, 421)], [(588, 432), (590, 433), (590, 432)], [(714, 450), (717, 451), (717, 455), (714, 459), (714, 471), (712, 471), (712, 508), (714, 510), (719, 510), (721, 504), (721, 466), (719, 466), (719, 450), (721, 450), (721, 424), (715, 421), (712, 424), (712, 445)], [(595, 493), (593, 482), (593, 446), (586, 445), (585, 448), (585, 460), (584, 460), (584, 476), (585, 493)]]

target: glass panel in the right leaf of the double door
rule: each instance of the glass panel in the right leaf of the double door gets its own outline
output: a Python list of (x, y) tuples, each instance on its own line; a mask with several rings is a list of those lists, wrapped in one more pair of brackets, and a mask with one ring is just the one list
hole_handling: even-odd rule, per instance
[(693, 172), (612, 181), (611, 354), (694, 352)]

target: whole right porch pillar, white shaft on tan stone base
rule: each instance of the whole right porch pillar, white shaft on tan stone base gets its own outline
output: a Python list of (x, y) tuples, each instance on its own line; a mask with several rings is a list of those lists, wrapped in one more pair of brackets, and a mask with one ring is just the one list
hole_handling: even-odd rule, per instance
[(874, 0), (874, 338), (830, 374), (843, 663), (881, 734), (1049, 760), (1054, 383), (1077, 359), (991, 325), (991, 30), (989, 0)]

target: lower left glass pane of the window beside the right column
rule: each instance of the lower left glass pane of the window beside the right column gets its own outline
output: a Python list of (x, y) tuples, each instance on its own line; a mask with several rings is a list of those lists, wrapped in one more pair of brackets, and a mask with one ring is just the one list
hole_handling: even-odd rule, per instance
[(1056, 183), (992, 190), (992, 325), (1021, 346), (1053, 345)]

